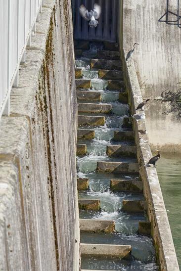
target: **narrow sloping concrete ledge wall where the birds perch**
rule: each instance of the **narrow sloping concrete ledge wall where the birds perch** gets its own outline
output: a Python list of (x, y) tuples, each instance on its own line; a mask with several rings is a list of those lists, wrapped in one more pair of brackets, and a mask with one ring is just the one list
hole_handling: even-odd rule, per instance
[[(123, 67), (127, 81), (127, 90), (129, 92), (131, 114), (133, 115), (135, 113), (137, 104), (142, 101), (142, 96), (134, 65), (131, 67), (127, 66), (124, 57)], [(148, 204), (147, 215), (149, 221), (151, 221), (151, 235), (155, 244), (157, 262), (160, 265), (161, 271), (179, 271), (172, 233), (170, 230), (156, 169), (144, 167), (146, 161), (152, 157), (147, 131), (143, 131), (143, 134), (139, 132), (142, 130), (140, 126), (144, 127), (144, 125), (144, 117), (139, 121), (134, 120), (133, 129), (135, 131), (136, 145), (138, 147), (137, 159), (140, 165), (139, 173), (143, 181), (144, 197)]]

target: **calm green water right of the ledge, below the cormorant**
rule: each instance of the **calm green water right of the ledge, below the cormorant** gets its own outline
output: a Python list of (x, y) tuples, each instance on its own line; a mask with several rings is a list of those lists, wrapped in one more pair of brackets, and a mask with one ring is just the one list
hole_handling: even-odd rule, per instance
[(157, 172), (181, 268), (181, 154), (162, 154)]

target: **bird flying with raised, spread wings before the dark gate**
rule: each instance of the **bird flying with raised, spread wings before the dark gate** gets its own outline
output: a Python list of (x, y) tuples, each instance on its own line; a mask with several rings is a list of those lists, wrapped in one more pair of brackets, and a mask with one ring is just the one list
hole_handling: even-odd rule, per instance
[(79, 7), (81, 16), (89, 22), (90, 27), (96, 27), (98, 25), (97, 19), (100, 17), (101, 7), (98, 4), (94, 4), (93, 10), (88, 11), (88, 9), (82, 4)]

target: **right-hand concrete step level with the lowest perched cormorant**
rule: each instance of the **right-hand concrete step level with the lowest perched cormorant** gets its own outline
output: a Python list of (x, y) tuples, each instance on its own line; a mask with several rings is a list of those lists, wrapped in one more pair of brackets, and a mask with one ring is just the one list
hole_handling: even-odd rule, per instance
[(136, 157), (136, 146), (130, 145), (107, 145), (106, 154), (113, 157)]

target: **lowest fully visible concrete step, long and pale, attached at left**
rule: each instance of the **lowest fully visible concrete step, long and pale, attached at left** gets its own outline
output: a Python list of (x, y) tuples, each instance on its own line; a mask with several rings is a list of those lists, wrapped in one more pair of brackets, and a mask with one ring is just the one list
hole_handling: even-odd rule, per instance
[(128, 245), (81, 244), (81, 255), (109, 256), (123, 259), (132, 251)]

